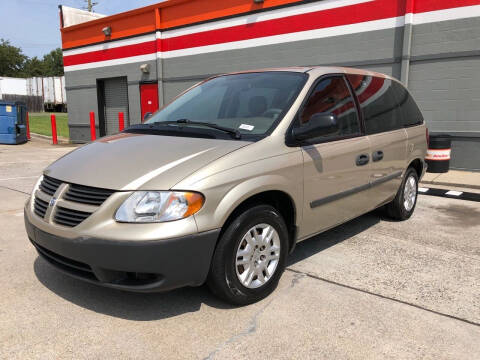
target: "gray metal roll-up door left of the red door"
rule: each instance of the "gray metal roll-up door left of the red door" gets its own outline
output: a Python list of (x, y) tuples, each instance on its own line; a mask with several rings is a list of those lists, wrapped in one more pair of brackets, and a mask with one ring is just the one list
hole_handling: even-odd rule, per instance
[(118, 113), (123, 112), (125, 126), (128, 119), (128, 87), (127, 78), (104, 80), (105, 91), (105, 133), (106, 135), (118, 132)]

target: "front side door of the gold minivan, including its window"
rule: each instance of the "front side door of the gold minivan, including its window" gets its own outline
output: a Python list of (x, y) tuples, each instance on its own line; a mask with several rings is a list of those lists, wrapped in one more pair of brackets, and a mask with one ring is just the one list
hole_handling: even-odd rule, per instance
[(300, 239), (364, 213), (369, 204), (370, 141), (363, 134), (343, 75), (322, 77), (314, 85), (295, 126), (315, 121), (318, 113), (334, 115), (338, 126), (302, 145), (304, 223)]

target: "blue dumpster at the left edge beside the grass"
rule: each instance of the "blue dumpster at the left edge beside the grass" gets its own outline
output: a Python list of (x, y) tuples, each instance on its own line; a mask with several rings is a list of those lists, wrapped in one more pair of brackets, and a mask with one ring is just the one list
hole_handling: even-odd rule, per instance
[(21, 102), (0, 101), (0, 144), (27, 141), (27, 106)]

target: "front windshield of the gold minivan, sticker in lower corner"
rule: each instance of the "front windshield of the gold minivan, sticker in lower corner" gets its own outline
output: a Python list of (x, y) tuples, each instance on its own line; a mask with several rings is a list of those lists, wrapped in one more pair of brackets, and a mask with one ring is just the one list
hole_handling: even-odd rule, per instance
[(188, 120), (238, 130), (242, 137), (264, 135), (281, 120), (305, 81), (304, 73), (280, 71), (219, 76), (179, 96), (146, 124)]

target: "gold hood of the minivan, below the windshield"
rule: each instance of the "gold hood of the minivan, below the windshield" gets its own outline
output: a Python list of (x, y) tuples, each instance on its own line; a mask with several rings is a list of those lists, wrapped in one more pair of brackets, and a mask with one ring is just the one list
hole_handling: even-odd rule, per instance
[(169, 190), (210, 162), (251, 142), (121, 133), (82, 146), (44, 174), (112, 190)]

